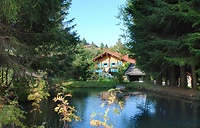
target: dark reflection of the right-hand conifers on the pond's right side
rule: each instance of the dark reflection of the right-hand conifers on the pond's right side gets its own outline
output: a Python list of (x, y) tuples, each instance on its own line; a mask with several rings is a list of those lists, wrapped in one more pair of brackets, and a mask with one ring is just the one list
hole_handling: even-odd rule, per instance
[(137, 108), (138, 113), (133, 113), (134, 116), (130, 118), (127, 127), (197, 128), (200, 126), (200, 121), (197, 120), (200, 116), (198, 103), (158, 96), (153, 100), (147, 95), (144, 102), (138, 102)]

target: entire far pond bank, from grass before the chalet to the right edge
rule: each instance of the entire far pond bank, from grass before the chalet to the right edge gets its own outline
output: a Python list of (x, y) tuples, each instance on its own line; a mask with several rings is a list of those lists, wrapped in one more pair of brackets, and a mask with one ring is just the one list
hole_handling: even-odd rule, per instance
[(153, 83), (128, 82), (120, 84), (117, 81), (71, 81), (62, 84), (64, 88), (115, 88), (123, 85), (130, 90), (148, 91), (163, 96), (176, 97), (194, 102), (200, 101), (200, 90), (185, 89), (178, 86), (161, 86)]

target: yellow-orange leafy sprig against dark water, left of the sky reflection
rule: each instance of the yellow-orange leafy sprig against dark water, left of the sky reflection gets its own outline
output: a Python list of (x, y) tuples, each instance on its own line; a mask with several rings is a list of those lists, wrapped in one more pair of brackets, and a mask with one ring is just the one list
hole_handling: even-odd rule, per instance
[(71, 107), (69, 101), (65, 99), (66, 97), (71, 96), (71, 94), (63, 95), (62, 93), (58, 93), (53, 99), (54, 102), (60, 102), (57, 107), (55, 107), (55, 112), (61, 115), (60, 121), (63, 121), (64, 123), (65, 121), (71, 122), (73, 119), (75, 119), (75, 121), (80, 121), (80, 117), (74, 114), (76, 109)]

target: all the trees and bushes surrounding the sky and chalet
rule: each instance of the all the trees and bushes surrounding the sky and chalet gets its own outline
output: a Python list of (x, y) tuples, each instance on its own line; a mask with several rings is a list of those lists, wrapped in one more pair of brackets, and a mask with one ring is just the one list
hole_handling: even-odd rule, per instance
[[(63, 80), (94, 78), (92, 58), (105, 49), (134, 53), (137, 66), (158, 84), (165, 78), (169, 85), (177, 86), (180, 78), (180, 86), (186, 87), (190, 73), (192, 88), (198, 88), (198, 0), (127, 0), (118, 16), (127, 28), (126, 45), (119, 39), (112, 48), (103, 43), (94, 48), (92, 43), (90, 50), (84, 47), (86, 39), (80, 40), (73, 30), (73, 19), (66, 21), (70, 4), (70, 0), (0, 1), (1, 112), (13, 110), (12, 116), (22, 117), (14, 109), (18, 103), (12, 102), (13, 95), (15, 101), (21, 100), (21, 90), (37, 106), (48, 96), (48, 89)], [(17, 118), (12, 121), (21, 125)]]

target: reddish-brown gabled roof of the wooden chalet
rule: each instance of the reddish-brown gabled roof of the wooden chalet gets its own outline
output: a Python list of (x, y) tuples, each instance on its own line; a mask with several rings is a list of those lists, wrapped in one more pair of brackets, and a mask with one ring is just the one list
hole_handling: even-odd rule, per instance
[(96, 61), (98, 60), (99, 58), (101, 58), (102, 56), (106, 55), (106, 54), (110, 54), (112, 56), (115, 56), (116, 58), (120, 59), (120, 60), (123, 60), (123, 61), (126, 61), (126, 62), (129, 62), (129, 63), (136, 63), (135, 59), (131, 59), (128, 57), (128, 55), (122, 55), (121, 53), (118, 53), (118, 52), (109, 52), (109, 51), (105, 51), (101, 54), (99, 54), (98, 56), (96, 56), (93, 61)]

